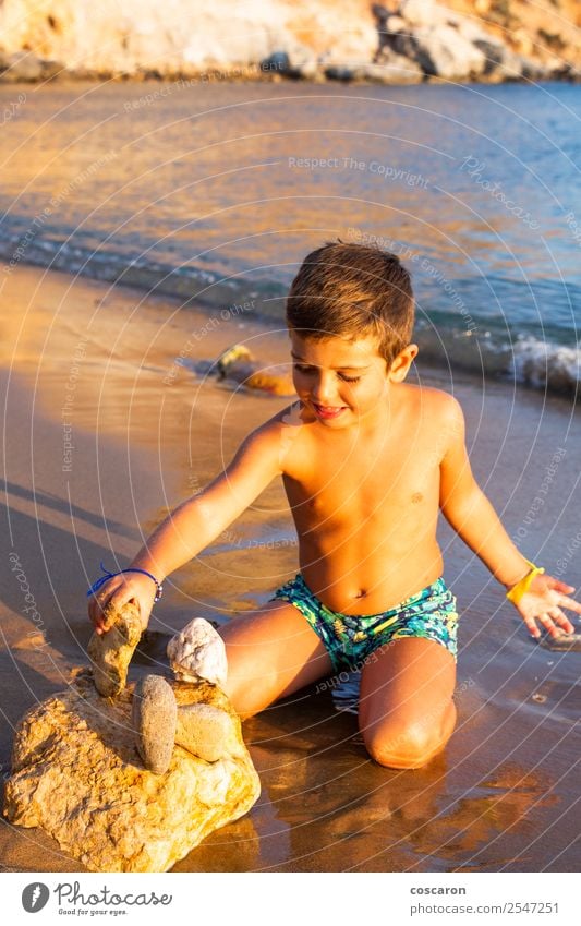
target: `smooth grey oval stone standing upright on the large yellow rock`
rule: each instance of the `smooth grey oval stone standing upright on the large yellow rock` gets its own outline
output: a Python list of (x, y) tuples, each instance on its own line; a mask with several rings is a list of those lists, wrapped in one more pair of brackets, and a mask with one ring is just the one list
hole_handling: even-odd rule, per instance
[(175, 739), (178, 705), (173, 689), (161, 675), (146, 675), (135, 685), (131, 720), (135, 746), (148, 771), (165, 774)]

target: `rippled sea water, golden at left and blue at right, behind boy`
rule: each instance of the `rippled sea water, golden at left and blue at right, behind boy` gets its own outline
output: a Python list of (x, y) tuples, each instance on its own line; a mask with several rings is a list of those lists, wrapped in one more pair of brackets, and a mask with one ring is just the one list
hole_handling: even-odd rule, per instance
[(413, 274), (433, 363), (574, 395), (581, 87), (0, 87), (0, 257), (282, 326), (325, 241)]

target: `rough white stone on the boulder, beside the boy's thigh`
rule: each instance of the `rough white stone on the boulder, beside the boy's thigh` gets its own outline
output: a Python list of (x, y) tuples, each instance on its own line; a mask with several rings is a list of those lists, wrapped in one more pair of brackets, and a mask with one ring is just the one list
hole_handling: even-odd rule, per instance
[(211, 682), (222, 688), (228, 674), (226, 647), (204, 617), (194, 617), (168, 644), (168, 658), (180, 682)]

